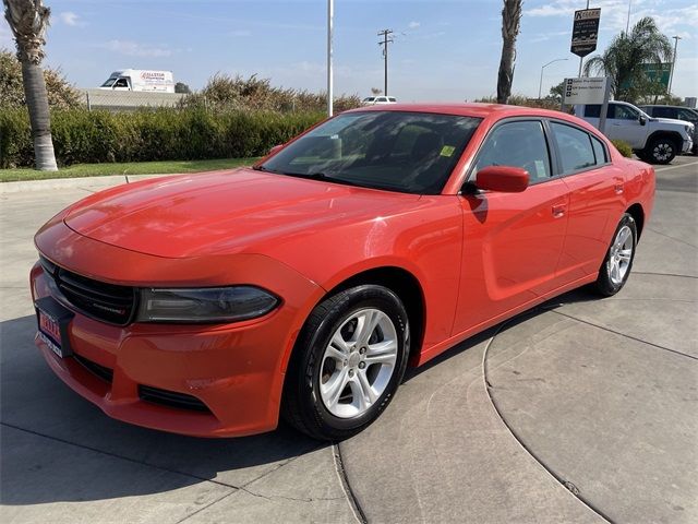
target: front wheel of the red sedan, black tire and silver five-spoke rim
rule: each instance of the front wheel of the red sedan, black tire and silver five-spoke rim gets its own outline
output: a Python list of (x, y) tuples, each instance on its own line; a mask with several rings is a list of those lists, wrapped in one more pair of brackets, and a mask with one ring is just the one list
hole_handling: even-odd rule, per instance
[[(375, 327), (362, 330), (366, 323)], [(385, 410), (408, 355), (407, 312), (395, 293), (362, 285), (330, 296), (311, 312), (293, 348), (281, 416), (314, 439), (347, 439)]]

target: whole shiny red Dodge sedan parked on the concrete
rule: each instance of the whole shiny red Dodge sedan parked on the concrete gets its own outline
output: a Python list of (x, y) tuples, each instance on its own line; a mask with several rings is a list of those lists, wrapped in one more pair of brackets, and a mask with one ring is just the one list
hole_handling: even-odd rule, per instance
[(36, 235), (36, 343), (105, 413), (321, 439), (408, 361), (555, 295), (617, 293), (654, 171), (583, 121), (496, 105), (341, 114), (252, 168), (91, 195)]

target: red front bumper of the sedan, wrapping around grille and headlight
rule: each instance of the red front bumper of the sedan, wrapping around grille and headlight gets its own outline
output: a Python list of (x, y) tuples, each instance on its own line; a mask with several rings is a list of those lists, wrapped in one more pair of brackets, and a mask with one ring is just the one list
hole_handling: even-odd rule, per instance
[[(170, 285), (184, 284), (173, 282), (181, 278), (181, 270), (177, 267), (186, 265), (184, 262), (178, 264), (121, 250), (82, 237), (64, 225), (55, 224), (53, 229), (50, 236), (39, 233), (36, 243), (43, 254), (58, 265), (93, 278), (97, 276), (94, 271), (86, 272), (87, 266), (105, 267), (108, 274), (100, 279), (115, 284), (119, 283), (116, 273), (121, 271), (124, 285), (133, 285), (132, 273), (136, 271), (146, 275), (143, 284), (149, 286), (158, 285), (147, 275), (153, 264), (159, 264), (160, 279)], [(57, 230), (62, 240), (49, 245), (47, 239), (55, 240)], [(67, 245), (73, 249), (69, 251), (70, 257), (61, 260), (60, 252), (51, 246)], [(140, 262), (134, 264), (134, 259)], [(101, 265), (108, 261), (110, 263)], [(118, 326), (73, 310), (75, 314), (68, 324), (67, 336), (75, 356), (58, 357), (38, 334), (36, 345), (59, 378), (116, 419), (200, 437), (272, 430), (278, 424), (284, 373), (297, 334), (324, 291), (266, 257), (245, 255), (242, 263), (231, 259), (228, 266), (239, 282), (226, 284), (266, 281), (264, 285), (282, 298), (281, 306), (260, 319), (220, 325), (132, 323)], [(196, 283), (209, 278), (202, 273), (191, 277)], [(33, 267), (31, 284), (35, 301), (56, 293), (49, 278), (40, 264)], [(220, 281), (221, 277), (210, 278)], [(158, 402), (153, 391), (161, 393), (160, 401), (169, 395), (182, 402)], [(188, 408), (188, 400), (194, 408)]]

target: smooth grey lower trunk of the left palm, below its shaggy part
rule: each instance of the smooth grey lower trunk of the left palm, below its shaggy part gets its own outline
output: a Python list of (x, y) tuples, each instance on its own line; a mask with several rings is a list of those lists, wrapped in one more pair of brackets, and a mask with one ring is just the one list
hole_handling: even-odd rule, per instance
[(41, 171), (57, 171), (46, 80), (41, 67), (26, 60), (23, 61), (22, 80), (26, 107), (29, 111), (29, 122), (32, 123), (36, 168)]

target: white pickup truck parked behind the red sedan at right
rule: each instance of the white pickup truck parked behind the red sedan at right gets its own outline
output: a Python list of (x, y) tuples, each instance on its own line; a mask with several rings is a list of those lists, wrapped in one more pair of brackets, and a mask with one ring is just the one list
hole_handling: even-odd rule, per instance
[[(577, 105), (575, 115), (598, 128), (601, 105)], [(627, 142), (639, 158), (650, 164), (669, 164), (677, 154), (690, 153), (694, 132), (690, 122), (652, 118), (627, 102), (609, 103), (605, 135)]]

